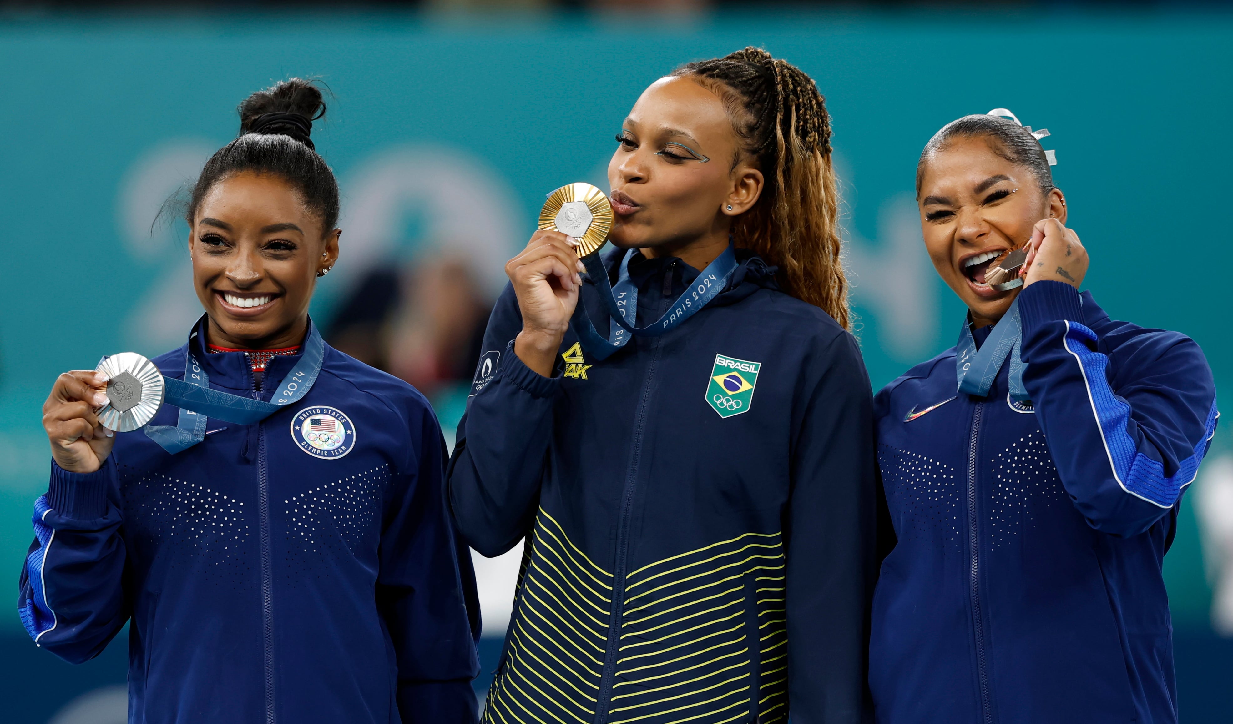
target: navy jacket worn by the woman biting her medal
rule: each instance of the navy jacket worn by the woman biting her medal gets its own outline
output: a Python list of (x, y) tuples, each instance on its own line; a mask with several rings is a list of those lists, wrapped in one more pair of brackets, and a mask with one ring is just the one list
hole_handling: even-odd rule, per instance
[(898, 543), (874, 597), (880, 723), (1178, 720), (1160, 566), (1216, 427), (1212, 374), (1175, 332), (1090, 292), (1018, 297), (1023, 384), (956, 396), (956, 352), (875, 398)]

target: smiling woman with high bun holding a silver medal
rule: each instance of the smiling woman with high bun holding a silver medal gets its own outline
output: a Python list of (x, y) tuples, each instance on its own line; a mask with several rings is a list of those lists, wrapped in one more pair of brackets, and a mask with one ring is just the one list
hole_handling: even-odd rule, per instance
[(206, 310), (187, 343), (65, 372), (43, 406), (22, 622), (73, 662), (129, 622), (134, 722), (477, 717), (440, 427), (308, 318), (339, 254), (324, 111), (298, 79), (240, 105), (187, 205)]

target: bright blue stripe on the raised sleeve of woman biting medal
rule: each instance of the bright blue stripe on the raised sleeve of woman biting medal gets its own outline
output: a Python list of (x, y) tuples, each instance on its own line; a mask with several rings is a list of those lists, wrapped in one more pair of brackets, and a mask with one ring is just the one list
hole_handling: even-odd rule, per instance
[(1105, 376), (1108, 358), (1088, 348), (1089, 343), (1095, 344), (1095, 342), (1096, 334), (1091, 329), (1078, 322), (1067, 321), (1063, 344), (1079, 363), (1084, 385), (1088, 387), (1088, 400), (1096, 417), (1096, 427), (1105, 442), (1108, 465), (1113, 470), (1113, 479), (1132, 496), (1161, 508), (1171, 508), (1178, 502), (1181, 490), (1195, 481), (1207, 444), (1216, 434), (1216, 419), (1219, 417), (1216, 400), (1212, 400), (1212, 409), (1207, 413), (1203, 426), (1203, 438), (1195, 445), (1194, 454), (1179, 461), (1178, 472), (1166, 477), (1164, 465), (1139, 453), (1126, 430), (1126, 423), (1131, 419), (1131, 406), (1110, 390), (1108, 379)]

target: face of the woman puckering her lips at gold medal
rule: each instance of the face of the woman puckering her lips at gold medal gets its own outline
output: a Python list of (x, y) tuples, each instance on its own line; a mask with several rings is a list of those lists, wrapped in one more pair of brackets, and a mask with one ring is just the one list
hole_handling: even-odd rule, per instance
[(715, 93), (688, 76), (651, 84), (625, 118), (608, 164), (616, 217), (610, 241), (668, 253), (703, 238), (726, 244), (731, 218), (762, 190), (752, 162), (734, 164), (737, 142)]

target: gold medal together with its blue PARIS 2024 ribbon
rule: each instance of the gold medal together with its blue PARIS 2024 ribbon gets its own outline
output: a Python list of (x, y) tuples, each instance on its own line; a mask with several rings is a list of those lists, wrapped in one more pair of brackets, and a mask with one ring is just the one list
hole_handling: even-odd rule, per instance
[(608, 241), (613, 221), (613, 208), (604, 192), (581, 183), (561, 186), (549, 194), (539, 218), (540, 229), (556, 229), (577, 239), (578, 257), (582, 258), (599, 298), (608, 307), (612, 322), (608, 324), (607, 339), (596, 332), (586, 305), (580, 302), (570, 319), (570, 327), (578, 335), (583, 349), (597, 360), (607, 359), (633, 337), (657, 337), (676, 329), (724, 291), (732, 273), (740, 266), (736, 250), (729, 242), (724, 253), (702, 270), (663, 316), (645, 327), (634, 327), (637, 317), (637, 287), (629, 280), (629, 261), (637, 249), (629, 249), (623, 254), (615, 286), (608, 279), (608, 269), (599, 258), (599, 249)]

